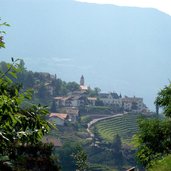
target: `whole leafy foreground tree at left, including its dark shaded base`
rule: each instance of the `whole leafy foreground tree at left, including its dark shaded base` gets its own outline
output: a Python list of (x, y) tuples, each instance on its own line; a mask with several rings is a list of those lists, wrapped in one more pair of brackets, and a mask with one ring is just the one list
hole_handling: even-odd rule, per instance
[[(8, 26), (3, 23), (0, 27), (4, 25)], [(0, 48), (5, 47), (2, 33), (4, 32), (0, 31)], [(50, 129), (49, 123), (44, 119), (49, 112), (41, 105), (24, 105), (26, 100), (31, 99), (31, 91), (24, 91), (21, 84), (13, 81), (21, 69), (18, 61), (12, 58), (12, 64), (8, 64), (5, 71), (0, 68), (0, 169), (27, 170), (27, 167), (23, 168), (23, 159), (26, 156), (26, 163), (30, 167), (28, 170), (34, 170), (35, 167), (40, 169), (37, 167), (40, 163), (37, 162), (42, 154), (41, 159), (48, 162), (50, 170), (58, 171), (58, 165), (50, 159), (53, 146), (40, 143), (43, 135)], [(33, 155), (29, 155), (30, 152), (35, 152), (36, 158), (32, 159)], [(21, 154), (22, 162), (19, 164)], [(11, 165), (6, 166), (4, 159), (10, 161)], [(33, 161), (36, 161), (35, 166), (32, 165)]]

